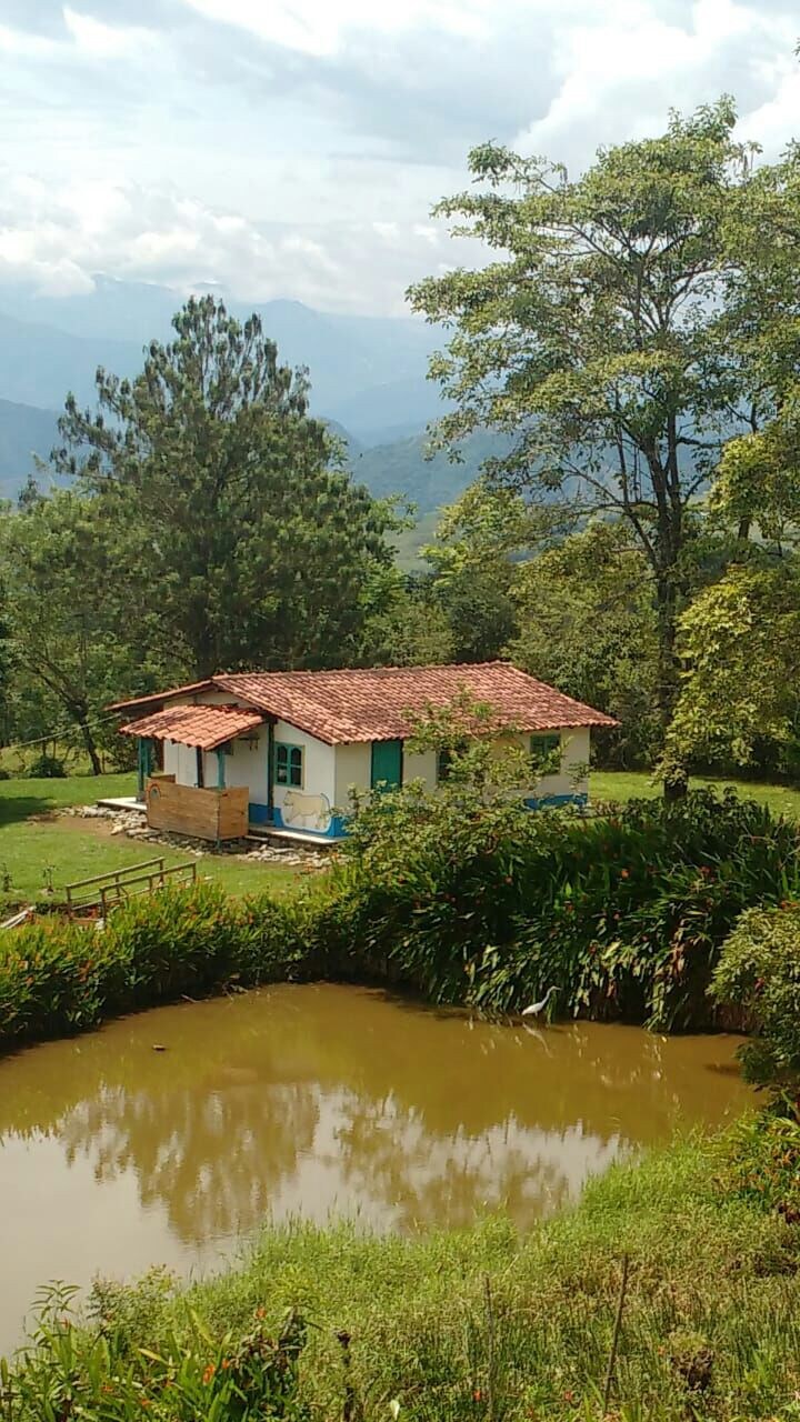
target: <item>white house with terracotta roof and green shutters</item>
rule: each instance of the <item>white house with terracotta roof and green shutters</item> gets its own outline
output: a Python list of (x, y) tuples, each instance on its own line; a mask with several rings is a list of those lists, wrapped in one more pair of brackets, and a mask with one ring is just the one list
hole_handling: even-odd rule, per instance
[[(614, 720), (504, 661), (221, 673), (112, 710), (137, 714), (121, 731), (138, 738), (140, 798), (147, 792), (162, 828), (186, 828), (186, 815), (199, 823), (201, 799), (186, 791), (214, 791), (225, 793), (225, 813), (222, 802), (202, 796), (214, 820), (206, 838), (246, 832), (249, 823), (337, 839), (350, 786), (416, 778), (436, 786), (436, 752), (406, 749), (409, 714), (446, 707), (464, 691), (488, 702), (498, 728), (512, 728), (531, 749), (559, 749), (559, 771), (531, 785), (531, 806), (585, 803), (591, 728)], [(149, 776), (154, 751), (161, 774)]]

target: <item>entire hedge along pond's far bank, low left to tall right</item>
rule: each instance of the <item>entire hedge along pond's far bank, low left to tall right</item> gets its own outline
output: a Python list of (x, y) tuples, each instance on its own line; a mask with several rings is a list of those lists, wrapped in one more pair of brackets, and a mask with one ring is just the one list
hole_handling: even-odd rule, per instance
[(800, 897), (797, 848), (793, 823), (733, 793), (595, 819), (376, 796), (327, 883), (293, 899), (201, 884), (132, 900), (101, 933), (56, 919), (9, 931), (0, 1049), (182, 994), (315, 977), (491, 1012), (557, 984), (562, 1015), (730, 1021), (732, 1001), (749, 1004), (709, 1001), (720, 946), (743, 910)]

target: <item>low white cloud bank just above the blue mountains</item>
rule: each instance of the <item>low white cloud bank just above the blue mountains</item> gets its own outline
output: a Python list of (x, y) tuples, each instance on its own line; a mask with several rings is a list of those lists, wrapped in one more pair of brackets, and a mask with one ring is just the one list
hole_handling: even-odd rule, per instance
[(369, 222), (258, 223), (155, 186), (53, 188), (0, 171), (0, 276), (48, 296), (91, 290), (102, 272), (182, 292), (219, 283), (242, 300), (399, 313), (406, 284), (430, 270), (430, 236), (413, 225), (390, 225), (387, 249)]

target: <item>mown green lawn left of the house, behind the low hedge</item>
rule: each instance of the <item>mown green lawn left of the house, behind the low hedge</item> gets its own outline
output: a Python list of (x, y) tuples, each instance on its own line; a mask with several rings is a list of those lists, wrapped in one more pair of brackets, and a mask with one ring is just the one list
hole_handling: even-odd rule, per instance
[[(56, 894), (61, 896), (64, 884), (75, 879), (88, 879), (145, 859), (164, 856), (168, 865), (192, 859), (181, 849), (141, 843), (124, 835), (112, 836), (108, 820), (48, 818), (51, 811), (65, 805), (91, 805), (110, 795), (132, 795), (134, 789), (131, 775), (0, 781), (0, 876), (9, 883), (0, 893), (0, 904), (41, 897), (46, 875), (51, 875)], [(243, 894), (290, 889), (300, 870), (246, 863), (235, 855), (202, 855), (198, 875), (222, 884), (229, 893)]]

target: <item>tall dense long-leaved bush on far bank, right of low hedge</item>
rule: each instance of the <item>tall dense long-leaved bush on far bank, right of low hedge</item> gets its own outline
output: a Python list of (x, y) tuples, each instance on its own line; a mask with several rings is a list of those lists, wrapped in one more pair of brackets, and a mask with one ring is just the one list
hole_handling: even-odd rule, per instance
[(340, 947), (436, 1001), (505, 1012), (555, 984), (561, 1012), (705, 1025), (739, 914), (800, 890), (797, 846), (733, 792), (586, 819), (407, 786), (359, 808)]

